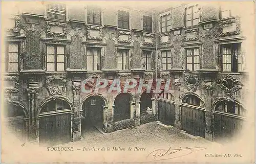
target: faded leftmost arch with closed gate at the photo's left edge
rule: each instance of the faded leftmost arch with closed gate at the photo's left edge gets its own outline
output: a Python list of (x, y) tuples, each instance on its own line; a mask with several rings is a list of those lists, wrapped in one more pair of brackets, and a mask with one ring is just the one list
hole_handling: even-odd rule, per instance
[(14, 134), (20, 142), (25, 142), (25, 112), (22, 107), (14, 104), (5, 105), (8, 132)]

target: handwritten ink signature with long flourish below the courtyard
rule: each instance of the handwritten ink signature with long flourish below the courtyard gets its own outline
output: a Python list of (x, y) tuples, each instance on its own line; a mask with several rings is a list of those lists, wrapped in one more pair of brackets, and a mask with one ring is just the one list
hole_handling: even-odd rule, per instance
[(158, 160), (166, 160), (166, 159), (173, 159), (182, 157), (188, 154), (191, 154), (196, 151), (204, 150), (205, 147), (180, 147), (178, 149), (172, 149), (172, 147), (169, 147), (169, 149), (156, 149), (149, 153), (147, 157), (153, 157), (153, 161)]

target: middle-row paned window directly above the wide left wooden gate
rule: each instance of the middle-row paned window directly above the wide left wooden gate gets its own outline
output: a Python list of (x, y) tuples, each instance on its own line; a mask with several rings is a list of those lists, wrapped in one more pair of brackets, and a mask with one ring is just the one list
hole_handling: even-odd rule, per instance
[(65, 45), (47, 45), (47, 71), (65, 71)]

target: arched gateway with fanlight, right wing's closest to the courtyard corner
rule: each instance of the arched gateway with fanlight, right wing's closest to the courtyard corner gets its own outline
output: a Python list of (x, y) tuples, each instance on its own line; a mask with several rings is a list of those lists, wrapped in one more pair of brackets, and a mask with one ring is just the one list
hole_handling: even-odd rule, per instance
[(158, 120), (163, 124), (174, 126), (175, 102), (174, 96), (168, 91), (162, 91), (158, 98)]

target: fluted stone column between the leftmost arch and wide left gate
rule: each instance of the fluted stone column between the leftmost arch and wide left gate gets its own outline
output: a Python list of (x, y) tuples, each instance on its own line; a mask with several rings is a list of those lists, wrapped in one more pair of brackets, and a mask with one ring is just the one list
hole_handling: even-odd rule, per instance
[(29, 142), (38, 142), (37, 136), (36, 136), (36, 99), (39, 92), (39, 87), (31, 87), (27, 88), (28, 92), (28, 106), (29, 106), (29, 134), (28, 134), (28, 140)]

